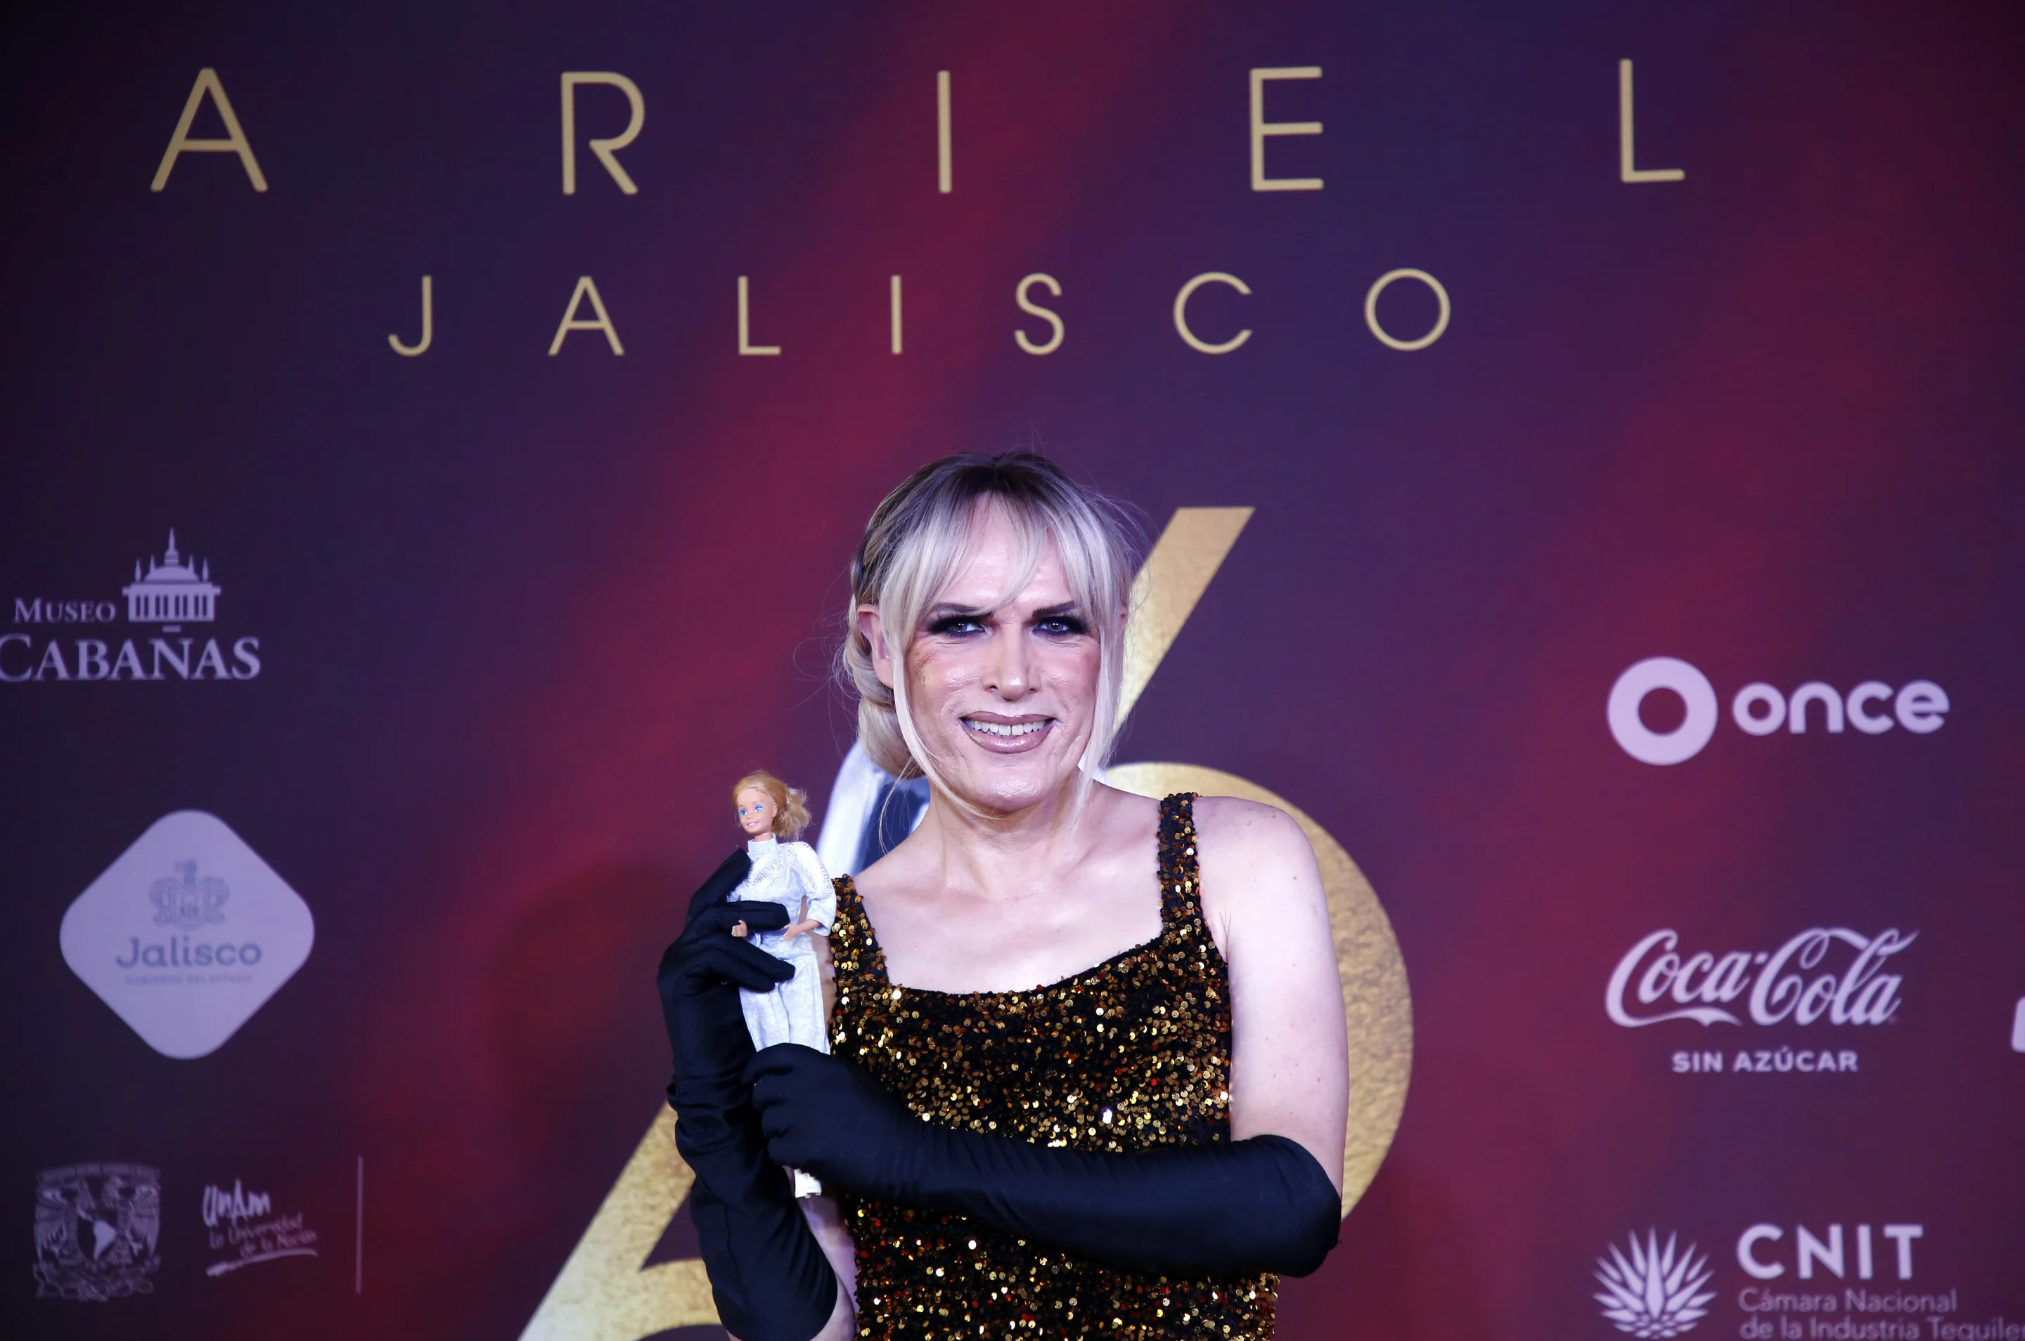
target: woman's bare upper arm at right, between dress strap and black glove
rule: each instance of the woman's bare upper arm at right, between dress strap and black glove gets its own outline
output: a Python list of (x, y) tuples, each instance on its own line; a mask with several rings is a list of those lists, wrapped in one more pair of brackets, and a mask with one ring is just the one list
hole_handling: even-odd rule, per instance
[(1349, 1045), (1328, 895), (1284, 810), (1195, 802), (1203, 916), (1231, 968), (1231, 1138), (1298, 1142), (1343, 1191)]

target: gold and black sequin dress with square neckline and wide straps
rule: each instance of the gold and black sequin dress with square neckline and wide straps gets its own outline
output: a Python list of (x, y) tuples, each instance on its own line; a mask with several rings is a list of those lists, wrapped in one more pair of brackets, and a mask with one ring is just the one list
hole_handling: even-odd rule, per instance
[[(832, 1051), (948, 1126), (1077, 1151), (1231, 1138), (1231, 1001), (1197, 899), (1195, 796), (1160, 802), (1160, 934), (1021, 993), (893, 987), (836, 881)], [(962, 1215), (842, 1197), (867, 1341), (1272, 1337), (1278, 1276), (1140, 1276)]]

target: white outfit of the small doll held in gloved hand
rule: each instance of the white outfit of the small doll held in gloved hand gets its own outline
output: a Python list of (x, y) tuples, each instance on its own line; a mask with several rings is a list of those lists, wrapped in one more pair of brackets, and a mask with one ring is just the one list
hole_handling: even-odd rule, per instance
[[(830, 883), (830, 873), (822, 869), (822, 859), (808, 843), (751, 839), (745, 843), (745, 855), (751, 857), (753, 867), (745, 875), (745, 883), (731, 891), (733, 903), (780, 903), (788, 910), (788, 922), (816, 924), (814, 932), (802, 932), (794, 940), (788, 940), (784, 932), (751, 932), (751, 944), (794, 968), (794, 976), (765, 993), (739, 989), (745, 1029), (753, 1035), (753, 1047), (802, 1043), (816, 1051), (830, 1051), (814, 940), (828, 936), (836, 922), (836, 887)], [(802, 899), (808, 899), (806, 916)], [(792, 1173), (796, 1197), (820, 1191), (820, 1183), (810, 1175), (800, 1169)]]

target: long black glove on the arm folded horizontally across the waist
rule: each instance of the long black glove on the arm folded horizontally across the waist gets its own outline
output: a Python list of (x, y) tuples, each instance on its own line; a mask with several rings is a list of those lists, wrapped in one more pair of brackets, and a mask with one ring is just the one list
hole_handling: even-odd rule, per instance
[(923, 1122), (842, 1057), (780, 1043), (745, 1068), (767, 1153), (865, 1197), (1164, 1276), (1306, 1276), (1336, 1246), (1336, 1189), (1286, 1136), (1134, 1153), (1049, 1149)]

